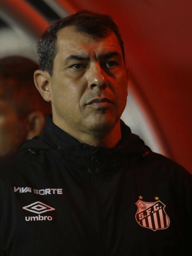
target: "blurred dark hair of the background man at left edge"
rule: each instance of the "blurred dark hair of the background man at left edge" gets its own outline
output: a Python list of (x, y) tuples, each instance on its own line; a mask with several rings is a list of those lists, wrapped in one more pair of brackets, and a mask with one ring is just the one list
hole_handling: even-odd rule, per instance
[(29, 58), (12, 55), (0, 58), (0, 98), (10, 102), (20, 119), (33, 111), (51, 112), (35, 87), (33, 74), (38, 64)]

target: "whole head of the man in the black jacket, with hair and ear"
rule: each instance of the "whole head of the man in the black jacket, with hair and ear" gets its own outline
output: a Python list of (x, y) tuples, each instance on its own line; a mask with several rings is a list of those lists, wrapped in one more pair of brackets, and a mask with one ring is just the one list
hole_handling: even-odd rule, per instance
[(109, 133), (127, 99), (123, 43), (111, 17), (84, 11), (59, 20), (42, 35), (38, 54), (35, 84), (55, 124), (78, 139)]

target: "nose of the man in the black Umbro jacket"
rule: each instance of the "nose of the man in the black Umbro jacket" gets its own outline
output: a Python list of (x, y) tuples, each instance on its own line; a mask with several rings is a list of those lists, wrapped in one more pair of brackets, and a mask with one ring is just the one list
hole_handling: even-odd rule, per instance
[(91, 65), (88, 74), (88, 87), (90, 89), (99, 88), (105, 89), (107, 87), (107, 79), (105, 71), (102, 70), (99, 63), (94, 63)]

